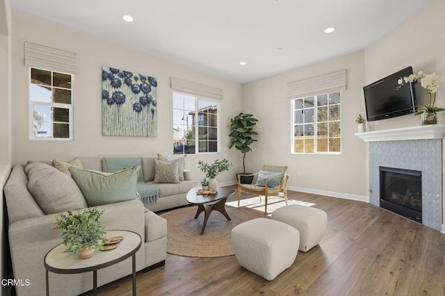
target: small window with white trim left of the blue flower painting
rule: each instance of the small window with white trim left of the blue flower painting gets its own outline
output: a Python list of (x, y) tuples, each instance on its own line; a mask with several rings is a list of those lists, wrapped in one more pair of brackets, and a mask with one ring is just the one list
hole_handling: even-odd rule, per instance
[(74, 75), (30, 68), (30, 139), (73, 139)]

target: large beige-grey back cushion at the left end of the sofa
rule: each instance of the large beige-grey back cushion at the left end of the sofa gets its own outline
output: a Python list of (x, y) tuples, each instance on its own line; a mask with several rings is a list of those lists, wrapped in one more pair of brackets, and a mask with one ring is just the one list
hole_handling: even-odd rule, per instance
[(81, 190), (73, 179), (46, 163), (29, 163), (28, 190), (43, 213), (53, 214), (86, 208)]

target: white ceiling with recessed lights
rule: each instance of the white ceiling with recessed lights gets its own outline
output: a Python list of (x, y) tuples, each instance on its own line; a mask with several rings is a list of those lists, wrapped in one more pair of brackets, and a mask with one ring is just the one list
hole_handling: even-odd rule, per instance
[[(362, 50), (429, 0), (11, 0), (15, 9), (247, 83)], [(134, 22), (122, 20), (131, 15)], [(337, 28), (325, 34), (329, 26)], [(409, 28), (407, 28), (409, 29)], [(241, 61), (247, 65), (241, 66)]]

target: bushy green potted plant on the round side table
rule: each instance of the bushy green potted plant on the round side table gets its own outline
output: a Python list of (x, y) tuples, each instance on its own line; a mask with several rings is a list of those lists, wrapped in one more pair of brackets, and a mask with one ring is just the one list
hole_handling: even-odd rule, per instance
[(67, 253), (79, 252), (81, 258), (90, 258), (95, 249), (103, 249), (102, 245), (108, 242), (106, 230), (99, 221), (103, 211), (97, 208), (88, 208), (83, 212), (56, 214), (56, 227), (62, 229), (63, 245), (67, 246)]

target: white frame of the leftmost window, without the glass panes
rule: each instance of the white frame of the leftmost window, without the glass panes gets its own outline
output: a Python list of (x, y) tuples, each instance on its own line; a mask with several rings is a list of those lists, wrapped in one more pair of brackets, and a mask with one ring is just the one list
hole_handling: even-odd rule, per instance
[[(47, 87), (51, 87), (51, 95), (52, 95), (52, 90), (54, 88), (53, 85), (53, 75), (54, 72), (56, 73), (60, 73), (60, 74), (67, 74), (71, 76), (71, 104), (62, 104), (62, 103), (54, 103), (54, 102), (44, 102), (44, 101), (33, 101), (32, 97), (31, 97), (31, 87), (34, 83), (32, 83), (31, 81), (31, 69), (39, 69), (39, 70), (43, 70), (43, 71), (47, 71), (47, 72), (51, 72), (51, 85), (45, 85)], [(54, 71), (54, 70), (50, 70), (50, 69), (43, 69), (43, 68), (39, 68), (39, 67), (29, 67), (29, 74), (28, 74), (28, 79), (29, 79), (29, 140), (38, 140), (38, 141), (72, 141), (74, 140), (74, 74), (71, 73), (66, 73), (66, 72), (61, 72), (61, 71)], [(58, 89), (64, 89), (64, 88), (58, 88)], [(63, 124), (68, 124), (68, 129), (69, 129), (69, 133), (70, 136), (68, 138), (54, 138), (54, 137), (35, 137), (34, 135), (34, 106), (49, 106), (51, 108), (63, 108), (63, 109), (68, 109), (68, 113), (69, 113), (69, 117), (68, 120), (69, 122), (60, 122)], [(53, 123), (59, 123), (59, 122), (53, 122)]]

